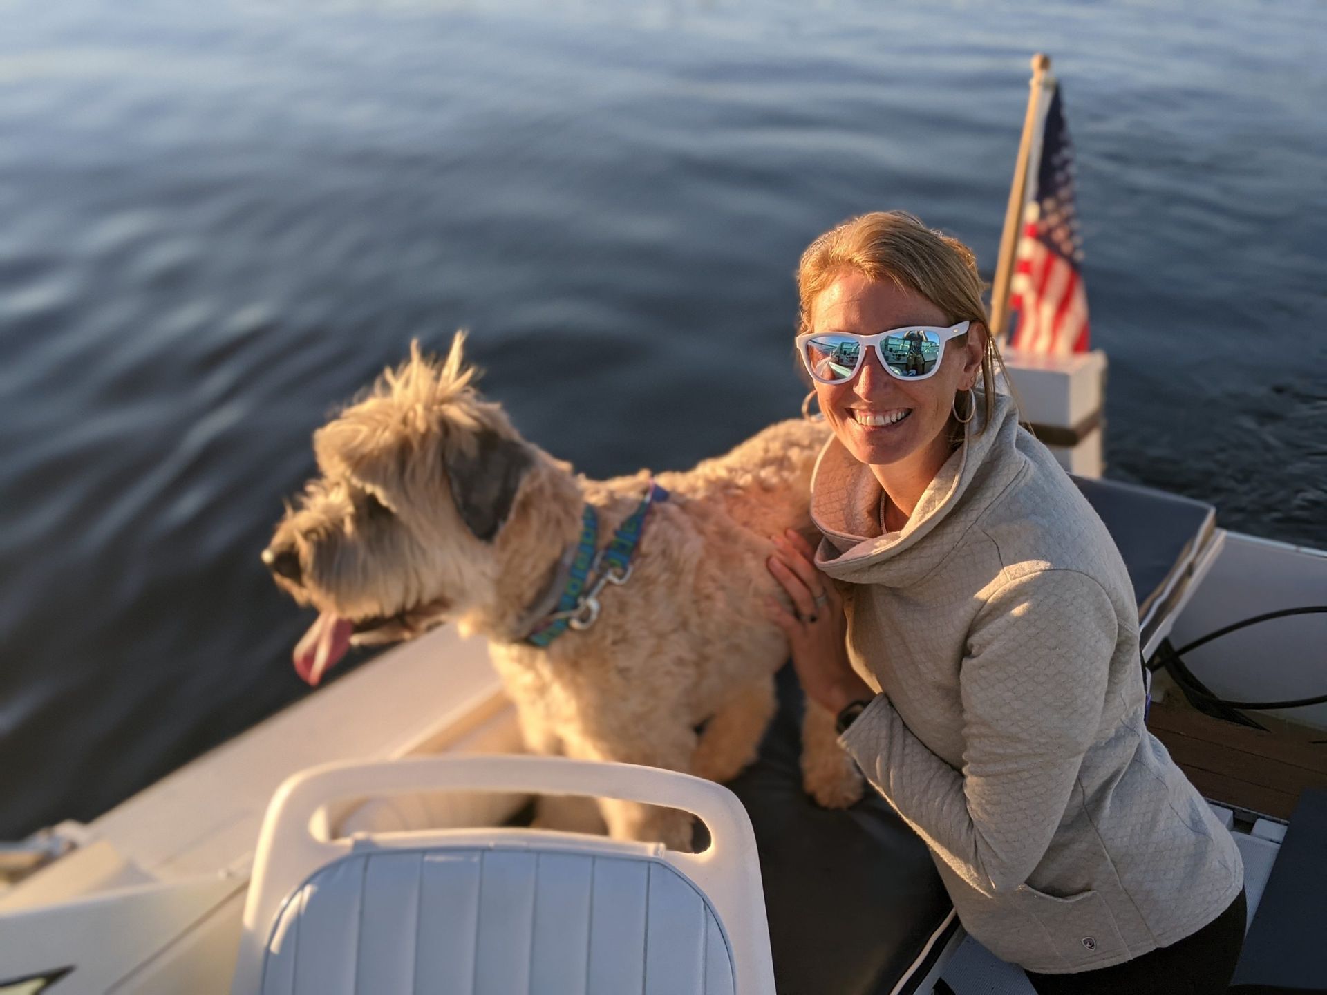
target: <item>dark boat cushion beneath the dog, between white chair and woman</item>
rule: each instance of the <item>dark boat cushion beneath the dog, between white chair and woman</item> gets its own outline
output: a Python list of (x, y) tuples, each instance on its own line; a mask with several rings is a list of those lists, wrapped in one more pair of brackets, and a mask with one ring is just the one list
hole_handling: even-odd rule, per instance
[[(957, 929), (926, 845), (867, 785), (851, 809), (802, 789), (802, 689), (779, 671), (779, 712), (731, 788), (755, 827), (779, 995), (910, 992)], [(929, 946), (928, 946), (929, 945)]]

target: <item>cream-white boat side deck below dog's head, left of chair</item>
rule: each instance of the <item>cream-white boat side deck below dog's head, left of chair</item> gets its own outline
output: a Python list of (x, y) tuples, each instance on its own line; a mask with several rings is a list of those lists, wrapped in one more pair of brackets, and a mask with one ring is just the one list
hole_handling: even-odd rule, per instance
[[(11, 966), (31, 963), (45, 971), (77, 961), (80, 968), (60, 986), (70, 995), (84, 984), (98, 995), (226, 991), (251, 857), (276, 787), (329, 759), (390, 759), (421, 747), (467, 750), (475, 748), (472, 739), (478, 748), (519, 746), (487, 642), (442, 629), (389, 650), (122, 803), (85, 828), (84, 846), (8, 889), (0, 909), (31, 907), (49, 918), (60, 951), (57, 957), (54, 949), (29, 945), (21, 962), (0, 955), (0, 964), (7, 976), (21, 976)], [(512, 804), (486, 801), (508, 811)], [(192, 918), (178, 914), (158, 922), (141, 907), (139, 892), (126, 890), (141, 885), (149, 886), (142, 894), (158, 888), (174, 894), (173, 885), (187, 890), (198, 876), (224, 880), (228, 899)], [(106, 913), (113, 926), (137, 921), (113, 949), (105, 937), (114, 937), (114, 929), (85, 933), (78, 926), (111, 906), (118, 907), (118, 914)], [(25, 935), (11, 929), (21, 921), (21, 913), (7, 915), (0, 954)], [(72, 935), (90, 937), (90, 945), (70, 943)], [(200, 970), (216, 964), (220, 972)]]

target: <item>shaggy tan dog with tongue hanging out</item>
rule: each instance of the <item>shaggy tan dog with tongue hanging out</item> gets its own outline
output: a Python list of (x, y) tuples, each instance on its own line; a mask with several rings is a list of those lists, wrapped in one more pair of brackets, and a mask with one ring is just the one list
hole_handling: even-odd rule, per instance
[[(770, 537), (812, 533), (811, 470), (828, 429), (780, 422), (694, 470), (660, 474), (670, 496), (648, 512), (629, 580), (604, 588), (593, 625), (541, 649), (523, 639), (561, 592), (584, 504), (598, 513), (602, 548), (649, 475), (589, 480), (524, 440), (472, 386), (462, 344), (458, 333), (442, 364), (414, 344), (314, 432), (322, 476), (263, 555), (285, 590), (321, 612), (296, 667), (317, 683), (350, 643), (455, 621), (488, 637), (531, 751), (735, 776), (755, 758), (788, 658), (760, 604), (787, 604), (764, 565)], [(823, 805), (860, 797), (833, 718), (809, 703), (803, 773)], [(598, 804), (614, 837), (689, 845), (681, 812)]]

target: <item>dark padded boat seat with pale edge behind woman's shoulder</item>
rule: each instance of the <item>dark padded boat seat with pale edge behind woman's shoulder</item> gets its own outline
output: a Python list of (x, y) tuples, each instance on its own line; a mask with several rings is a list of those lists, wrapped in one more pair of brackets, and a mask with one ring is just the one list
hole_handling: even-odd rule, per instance
[(1205, 501), (1119, 480), (1072, 476), (1124, 559), (1139, 601), (1143, 655), (1151, 657), (1188, 594), (1198, 561), (1225, 535)]

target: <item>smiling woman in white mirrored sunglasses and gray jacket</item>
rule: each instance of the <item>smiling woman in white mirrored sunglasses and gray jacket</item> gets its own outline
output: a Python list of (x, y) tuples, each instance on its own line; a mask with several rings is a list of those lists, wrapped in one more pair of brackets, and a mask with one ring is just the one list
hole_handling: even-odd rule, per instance
[[(798, 283), (833, 429), (812, 480), (824, 539), (780, 541), (796, 614), (767, 610), (807, 695), (926, 841), (967, 931), (1038, 992), (1225, 991), (1239, 853), (1143, 724), (1133, 588), (997, 391), (973, 253), (869, 214), (816, 239)], [(909, 332), (929, 341), (920, 374), (886, 341)]]

